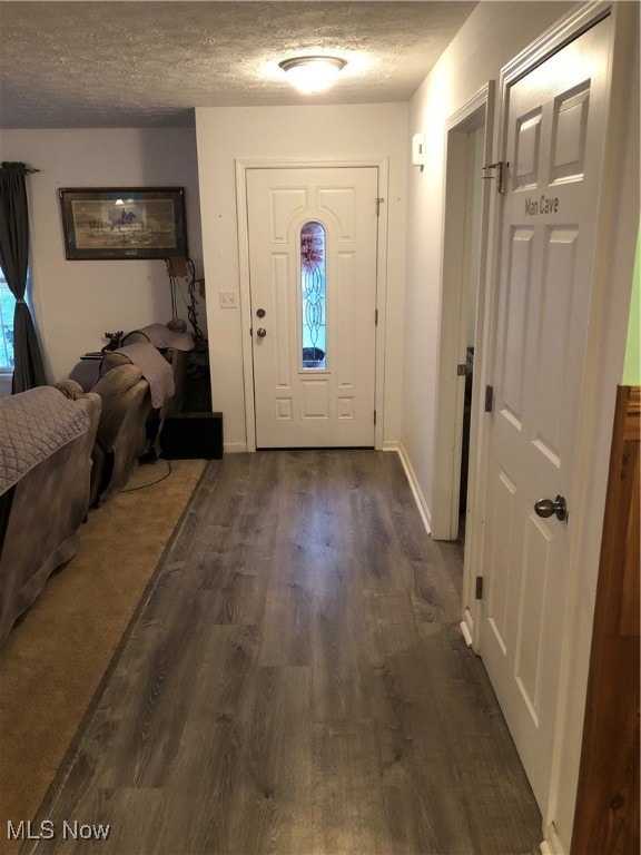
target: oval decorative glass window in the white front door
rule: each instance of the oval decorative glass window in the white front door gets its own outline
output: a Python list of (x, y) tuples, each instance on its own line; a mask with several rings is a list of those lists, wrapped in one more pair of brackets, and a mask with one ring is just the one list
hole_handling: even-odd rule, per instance
[(325, 228), (305, 223), (300, 230), (303, 367), (327, 367)]

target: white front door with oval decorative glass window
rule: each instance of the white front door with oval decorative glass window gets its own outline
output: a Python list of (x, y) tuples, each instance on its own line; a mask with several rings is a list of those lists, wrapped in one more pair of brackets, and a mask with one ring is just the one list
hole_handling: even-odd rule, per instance
[(247, 170), (257, 448), (374, 445), (378, 169)]

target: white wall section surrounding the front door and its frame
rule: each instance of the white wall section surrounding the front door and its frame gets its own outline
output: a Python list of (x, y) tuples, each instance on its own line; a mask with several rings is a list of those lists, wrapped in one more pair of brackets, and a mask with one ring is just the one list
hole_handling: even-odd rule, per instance
[(401, 430), (401, 355), (405, 254), (407, 105), (230, 107), (196, 110), (207, 325), (214, 409), (225, 419), (225, 448), (247, 443), (240, 309), (220, 309), (218, 291), (239, 292), (236, 160), (381, 160), (388, 218), (383, 440)]

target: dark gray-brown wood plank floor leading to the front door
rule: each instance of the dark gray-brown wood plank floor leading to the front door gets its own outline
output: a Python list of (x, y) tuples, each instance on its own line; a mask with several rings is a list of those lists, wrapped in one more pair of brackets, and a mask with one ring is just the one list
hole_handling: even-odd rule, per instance
[(210, 463), (23, 852), (538, 852), (461, 572), (394, 453)]

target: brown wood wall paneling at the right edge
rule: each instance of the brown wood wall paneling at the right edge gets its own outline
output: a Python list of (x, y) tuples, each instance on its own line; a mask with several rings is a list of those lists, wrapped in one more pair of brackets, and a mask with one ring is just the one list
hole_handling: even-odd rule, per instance
[(571, 855), (638, 855), (639, 386), (619, 386)]

